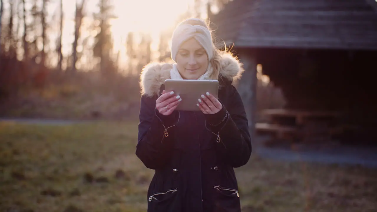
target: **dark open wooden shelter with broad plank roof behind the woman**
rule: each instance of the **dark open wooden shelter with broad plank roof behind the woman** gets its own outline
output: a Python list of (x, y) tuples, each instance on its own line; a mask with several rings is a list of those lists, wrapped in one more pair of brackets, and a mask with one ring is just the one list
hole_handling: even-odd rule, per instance
[(361, 129), (353, 142), (377, 144), (376, 1), (233, 0), (208, 17), (219, 44), (234, 43), (245, 65), (239, 91), (252, 136), (262, 64), (287, 108), (340, 111), (343, 123)]

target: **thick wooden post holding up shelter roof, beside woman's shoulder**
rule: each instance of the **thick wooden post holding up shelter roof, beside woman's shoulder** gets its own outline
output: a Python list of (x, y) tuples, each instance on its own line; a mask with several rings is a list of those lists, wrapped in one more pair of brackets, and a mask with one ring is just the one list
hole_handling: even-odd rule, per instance
[(256, 52), (242, 49), (237, 51), (239, 60), (244, 64), (245, 72), (238, 81), (237, 90), (244, 102), (249, 123), (251, 141), (255, 137), (256, 123), (256, 91), (257, 91), (257, 61)]

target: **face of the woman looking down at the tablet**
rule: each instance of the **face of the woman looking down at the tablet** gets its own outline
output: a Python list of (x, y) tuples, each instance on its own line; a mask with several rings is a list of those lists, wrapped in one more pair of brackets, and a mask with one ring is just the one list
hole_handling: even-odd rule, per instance
[(207, 71), (208, 56), (194, 38), (185, 41), (176, 55), (179, 74), (186, 80), (197, 80)]

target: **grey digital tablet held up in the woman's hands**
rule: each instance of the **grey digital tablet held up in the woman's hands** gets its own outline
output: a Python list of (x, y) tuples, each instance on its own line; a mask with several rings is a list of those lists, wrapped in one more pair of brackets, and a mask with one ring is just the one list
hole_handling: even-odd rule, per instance
[[(219, 81), (217, 80), (165, 80), (165, 91), (174, 91), (175, 95), (182, 98), (176, 110), (179, 111), (200, 111), (198, 99), (206, 92), (210, 92), (218, 98)], [(206, 95), (205, 95), (206, 96)]]

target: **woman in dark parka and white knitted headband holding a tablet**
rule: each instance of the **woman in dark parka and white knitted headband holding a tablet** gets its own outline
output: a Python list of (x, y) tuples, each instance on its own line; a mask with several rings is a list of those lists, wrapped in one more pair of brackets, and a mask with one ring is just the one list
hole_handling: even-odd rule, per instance
[[(242, 65), (213, 44), (205, 22), (190, 18), (172, 35), (175, 64), (152, 63), (141, 74), (136, 155), (155, 170), (148, 212), (241, 211), (234, 167), (251, 155), (248, 120), (237, 90)], [(219, 81), (219, 100), (206, 92), (201, 111), (176, 111), (182, 98), (164, 90), (166, 79)]]

